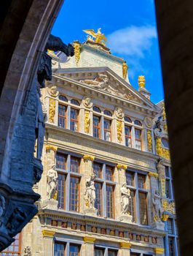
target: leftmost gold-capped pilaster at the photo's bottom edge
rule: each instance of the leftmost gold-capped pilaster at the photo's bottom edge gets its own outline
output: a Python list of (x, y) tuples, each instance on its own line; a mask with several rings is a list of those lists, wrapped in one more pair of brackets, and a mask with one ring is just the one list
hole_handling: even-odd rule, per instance
[(44, 255), (53, 256), (54, 255), (54, 243), (53, 238), (55, 232), (51, 230), (42, 230), (43, 240), (44, 240)]

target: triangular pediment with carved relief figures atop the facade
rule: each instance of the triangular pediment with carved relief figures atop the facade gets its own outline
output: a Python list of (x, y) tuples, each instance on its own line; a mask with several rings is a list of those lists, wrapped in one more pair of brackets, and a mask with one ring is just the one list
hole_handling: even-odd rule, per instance
[(143, 105), (154, 111), (159, 111), (154, 103), (133, 88), (130, 83), (120, 78), (109, 67), (53, 69), (54, 76), (65, 78), (80, 86), (90, 87), (106, 94), (111, 94), (128, 102)]

